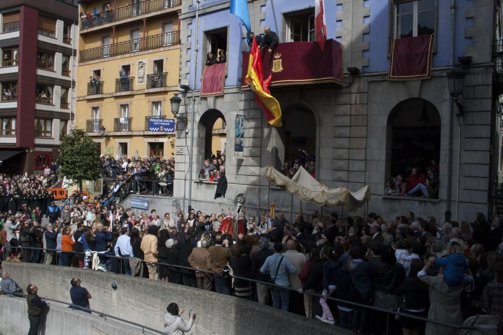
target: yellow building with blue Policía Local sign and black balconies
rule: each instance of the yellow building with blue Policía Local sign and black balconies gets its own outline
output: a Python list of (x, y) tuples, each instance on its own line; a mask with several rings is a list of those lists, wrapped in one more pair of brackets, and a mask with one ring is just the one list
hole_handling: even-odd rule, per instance
[(79, 4), (76, 126), (102, 155), (171, 156), (181, 0)]

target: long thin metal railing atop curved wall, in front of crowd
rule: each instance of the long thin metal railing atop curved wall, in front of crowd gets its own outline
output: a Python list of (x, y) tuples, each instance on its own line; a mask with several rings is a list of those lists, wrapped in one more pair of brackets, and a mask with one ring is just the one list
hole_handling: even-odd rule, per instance
[[(7, 246), (4, 246), (3, 248), (4, 248), (4, 252), (2, 253), (2, 257), (3, 257), (4, 260), (5, 260), (5, 257), (6, 257), (7, 254), (9, 254), (10, 256), (12, 256), (13, 250), (16, 250), (16, 249), (20, 249), (20, 251), (23, 251), (23, 252), (24, 252), (24, 250), (40, 250), (40, 251), (45, 251), (44, 248), (33, 248), (33, 247), (7, 247)], [(10, 249), (10, 250), (8, 250), (9, 253), (7, 253), (5, 249)], [(85, 255), (85, 253), (83, 253), (83, 252), (75, 252), (75, 251), (71, 251), (70, 252), (70, 251), (64, 251), (64, 250), (61, 250), (61, 249), (47, 249), (47, 250), (49, 252), (52, 252), (53, 254), (56, 254), (56, 256), (55, 256), (55, 258), (56, 258), (56, 264), (58, 264), (58, 259), (61, 259), (61, 255), (58, 255), (61, 252), (64, 252), (64, 253), (67, 253), (67, 254), (71, 254), (71, 255), (75, 255), (75, 254), (80, 254), (80, 255), (83, 254), (83, 255)], [(107, 255), (107, 254), (100, 254), (100, 257), (110, 258), (110, 259), (114, 260), (114, 266), (116, 266), (116, 267), (117, 267), (117, 265), (119, 266), (119, 269), (116, 268), (116, 272), (115, 272), (116, 274), (123, 274), (123, 271), (122, 271), (123, 270), (123, 263), (122, 263), (123, 261), (129, 262), (129, 257), (120, 257), (120, 256), (118, 257), (118, 256), (115, 256), (115, 255), (112, 256), (112, 255)], [(144, 260), (142, 260), (142, 259), (139, 259), (139, 260), (142, 263), (145, 263), (145, 265), (147, 264), (147, 262), (145, 262)], [(202, 279), (201, 279), (201, 276), (197, 275), (198, 273), (207, 273), (207, 274), (210, 274), (212, 276), (214, 276), (214, 275), (223, 276), (222, 273), (213, 272), (211, 270), (194, 269), (192, 267), (187, 267), (187, 266), (178, 265), (178, 264), (170, 264), (170, 263), (163, 263), (163, 262), (152, 262), (152, 263), (148, 263), (148, 264), (156, 264), (157, 266), (159, 266), (159, 265), (161, 265), (161, 266), (168, 266), (168, 267), (171, 267), (171, 268), (184, 269), (184, 270), (189, 270), (191, 272), (194, 272), (196, 278), (199, 280), (198, 287), (202, 287), (202, 285), (201, 285), (202, 284), (201, 283)], [(120, 271), (120, 273), (117, 272), (118, 270)], [(140, 276), (141, 276), (141, 274), (140, 274)], [(288, 287), (288, 286), (277, 285), (277, 284), (273, 284), (273, 283), (270, 283), (270, 282), (265, 282), (265, 281), (261, 281), (261, 280), (257, 280), (257, 279), (253, 279), (253, 278), (241, 277), (241, 276), (236, 276), (236, 275), (233, 275), (233, 274), (232, 275), (229, 274), (228, 278), (234, 278), (234, 279), (239, 279), (239, 280), (243, 280), (243, 281), (247, 281), (248, 282), (248, 288), (249, 288), (249, 291), (250, 291), (250, 294), (248, 295), (248, 299), (249, 300), (251, 300), (251, 290), (254, 287), (251, 283), (261, 284), (261, 285), (270, 286), (270, 287), (274, 287), (274, 288), (280, 288), (280, 289), (288, 289), (290, 291), (297, 292), (296, 289), (293, 289), (293, 288)], [(310, 295), (311, 297), (317, 297), (317, 298), (323, 297), (323, 295), (321, 295), (321, 294), (317, 294), (317, 293), (309, 292), (309, 291), (303, 291), (302, 294)], [(354, 301), (350, 301), (350, 300), (344, 300), (344, 299), (334, 298), (334, 297), (330, 297), (330, 296), (328, 296), (326, 299), (327, 300), (331, 300), (331, 301), (336, 301), (336, 302), (342, 302), (342, 303), (350, 305), (352, 307), (365, 308), (365, 309), (369, 309), (369, 310), (374, 310), (374, 311), (377, 311), (377, 312), (385, 313), (386, 317), (388, 319), (388, 322), (386, 323), (386, 333), (389, 333), (388, 332), (388, 330), (389, 330), (389, 317), (390, 316), (391, 317), (400, 316), (400, 317), (412, 318), (412, 319), (415, 319), (415, 320), (418, 320), (418, 321), (422, 321), (422, 322), (434, 323), (434, 324), (442, 325), (442, 326), (445, 326), (445, 327), (450, 327), (452, 329), (477, 330), (477, 331), (480, 332), (480, 334), (483, 334), (483, 335), (487, 334), (487, 335), (489, 335), (489, 330), (484, 329), (483, 327), (480, 327), (480, 326), (473, 326), (473, 325), (469, 326), (469, 325), (461, 325), (461, 324), (453, 324), (453, 323), (448, 323), (448, 322), (442, 322), (442, 321), (437, 321), (437, 320), (434, 320), (434, 319), (429, 319), (429, 318), (426, 318), (426, 317), (421, 317), (421, 316), (406, 314), (406, 313), (402, 313), (402, 312), (397, 312), (397, 311), (393, 311), (393, 310), (389, 310), (389, 309), (374, 307), (374, 306), (371, 306), (371, 305), (367, 305), (367, 304), (363, 304), (363, 303), (358, 303), (358, 302), (354, 302)], [(503, 322), (503, 320), (502, 320), (502, 322)], [(446, 332), (446, 334), (447, 333), (448, 332)]]

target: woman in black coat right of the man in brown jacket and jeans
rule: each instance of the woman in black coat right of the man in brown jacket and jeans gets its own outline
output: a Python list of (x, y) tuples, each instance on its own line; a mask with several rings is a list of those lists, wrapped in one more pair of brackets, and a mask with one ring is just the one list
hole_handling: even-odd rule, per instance
[[(234, 276), (251, 278), (251, 258), (243, 253), (237, 243), (230, 248), (229, 266)], [(249, 299), (251, 295), (251, 282), (234, 278), (234, 295), (239, 298)]]

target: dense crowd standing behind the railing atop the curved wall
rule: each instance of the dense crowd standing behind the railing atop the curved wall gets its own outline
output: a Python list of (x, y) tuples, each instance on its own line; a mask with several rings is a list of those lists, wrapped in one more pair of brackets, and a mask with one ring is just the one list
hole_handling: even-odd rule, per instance
[[(477, 313), (503, 313), (503, 217), (489, 221), (477, 213), (473, 222), (438, 224), (412, 212), (393, 220), (375, 213), (342, 220), (337, 213), (300, 212), (290, 223), (283, 212), (257, 219), (241, 211), (234, 221), (232, 212), (178, 209), (161, 216), (114, 204), (89, 210), (79, 197), (62, 211), (54, 207), (50, 203), (50, 223), (42, 228), (29, 207), (4, 216), (6, 261), (169, 281), (314, 316), (355, 333), (449, 329), (397, 320), (385, 311), (453, 324)], [(43, 248), (43, 255), (28, 246)]]

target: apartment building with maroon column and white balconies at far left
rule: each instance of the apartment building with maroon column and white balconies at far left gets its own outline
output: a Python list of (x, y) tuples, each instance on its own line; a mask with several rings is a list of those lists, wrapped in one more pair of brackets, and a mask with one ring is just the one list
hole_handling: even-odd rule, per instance
[(0, 2), (0, 170), (41, 171), (75, 111), (76, 1)]

